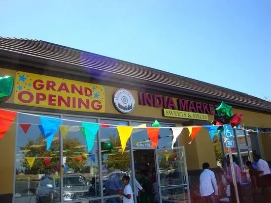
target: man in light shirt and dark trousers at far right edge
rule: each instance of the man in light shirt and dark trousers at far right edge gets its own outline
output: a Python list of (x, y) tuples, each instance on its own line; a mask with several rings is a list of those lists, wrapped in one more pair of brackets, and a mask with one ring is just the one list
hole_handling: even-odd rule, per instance
[(271, 203), (271, 171), (269, 165), (259, 154), (255, 154), (254, 159), (257, 161), (263, 198), (265, 203)]

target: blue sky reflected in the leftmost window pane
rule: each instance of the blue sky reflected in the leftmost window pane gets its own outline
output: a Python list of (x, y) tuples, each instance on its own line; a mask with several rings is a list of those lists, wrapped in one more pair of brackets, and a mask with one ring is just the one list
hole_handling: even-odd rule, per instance
[[(40, 116), (48, 116), (48, 115), (40, 114)], [(59, 116), (53, 116), (53, 115), (49, 115), (49, 116), (59, 118)], [(28, 123), (32, 125), (30, 126), (28, 132), (25, 134), (23, 129), (19, 126), (19, 124), (17, 124), (17, 141), (16, 141), (17, 145), (15, 148), (16, 158), (25, 156), (23, 153), (20, 152), (21, 151), (20, 146), (25, 146), (28, 143), (29, 139), (36, 140), (39, 137), (40, 130), (39, 130), (38, 124), (41, 124), (38, 116), (30, 116), (30, 115), (25, 115), (25, 114), (18, 114), (18, 122)], [(55, 137), (57, 137), (58, 135), (59, 135), (59, 132), (56, 133)], [(46, 142), (44, 142), (44, 146), (46, 146)], [(18, 160), (21, 160), (21, 159), (18, 159)], [(16, 161), (15, 165), (17, 168), (20, 168), (21, 162)]]

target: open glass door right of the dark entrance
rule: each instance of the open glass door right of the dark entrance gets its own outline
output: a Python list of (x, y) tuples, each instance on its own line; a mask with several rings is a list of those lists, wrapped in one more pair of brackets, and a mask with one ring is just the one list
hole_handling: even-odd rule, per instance
[(191, 203), (184, 146), (156, 149), (160, 203)]

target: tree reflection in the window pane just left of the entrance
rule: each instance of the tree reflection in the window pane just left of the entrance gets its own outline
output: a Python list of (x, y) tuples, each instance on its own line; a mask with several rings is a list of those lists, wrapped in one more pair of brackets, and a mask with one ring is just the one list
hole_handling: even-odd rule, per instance
[[(116, 136), (115, 134), (113, 136), (110, 135), (109, 139), (109, 142), (111, 143), (115, 151), (109, 152), (106, 155), (107, 159), (104, 161), (103, 166), (107, 168), (109, 172), (115, 170), (128, 171), (130, 169), (130, 152), (122, 153), (119, 136)], [(128, 142), (129, 140), (127, 141), (127, 143)], [(102, 156), (105, 156), (105, 153), (103, 153)]]

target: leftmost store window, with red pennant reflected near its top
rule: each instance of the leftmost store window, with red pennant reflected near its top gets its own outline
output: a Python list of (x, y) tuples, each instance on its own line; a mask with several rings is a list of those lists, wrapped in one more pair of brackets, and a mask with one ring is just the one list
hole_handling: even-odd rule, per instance
[[(60, 202), (59, 132), (54, 136), (49, 150), (46, 150), (46, 139), (39, 128), (39, 117), (18, 114), (18, 122), (20, 124), (17, 124), (15, 149), (15, 203), (36, 200)], [(45, 196), (45, 191), (50, 195)]]

